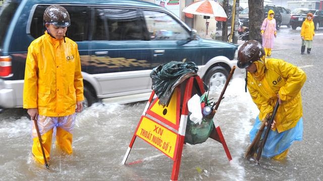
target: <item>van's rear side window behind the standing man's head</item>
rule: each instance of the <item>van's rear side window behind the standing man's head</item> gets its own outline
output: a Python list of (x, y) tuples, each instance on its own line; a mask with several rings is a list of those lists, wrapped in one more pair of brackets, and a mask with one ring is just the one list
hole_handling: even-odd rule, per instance
[[(34, 12), (30, 34), (34, 38), (38, 38), (44, 34), (45, 27), (43, 25), (43, 14), (48, 6), (39, 5), (36, 7)], [(70, 14), (71, 26), (67, 30), (67, 37), (73, 41), (87, 41), (88, 40), (88, 29), (90, 18), (90, 8), (86, 6), (63, 6)]]

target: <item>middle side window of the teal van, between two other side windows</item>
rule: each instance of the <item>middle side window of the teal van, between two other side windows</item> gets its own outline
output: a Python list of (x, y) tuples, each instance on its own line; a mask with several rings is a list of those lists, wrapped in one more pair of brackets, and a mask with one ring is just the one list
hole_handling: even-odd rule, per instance
[(144, 40), (143, 22), (135, 9), (95, 9), (93, 40)]

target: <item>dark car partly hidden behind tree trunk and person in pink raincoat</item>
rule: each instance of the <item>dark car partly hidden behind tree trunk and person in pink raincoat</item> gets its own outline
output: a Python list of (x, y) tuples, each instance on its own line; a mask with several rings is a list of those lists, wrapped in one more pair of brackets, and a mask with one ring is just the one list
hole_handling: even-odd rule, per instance
[[(263, 7), (263, 17), (262, 20), (267, 18), (267, 14), (269, 10), (273, 10), (275, 12), (275, 20), (276, 20), (276, 29), (279, 30), (281, 28), (282, 24), (282, 15), (279, 12), (279, 9), (274, 6), (274, 5), (267, 5)], [(240, 14), (239, 14), (239, 20), (242, 23), (242, 26), (249, 27), (249, 8), (244, 9)]]

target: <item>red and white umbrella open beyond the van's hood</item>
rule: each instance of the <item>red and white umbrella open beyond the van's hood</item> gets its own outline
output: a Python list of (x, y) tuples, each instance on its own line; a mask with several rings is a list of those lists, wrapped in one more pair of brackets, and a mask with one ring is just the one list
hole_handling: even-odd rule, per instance
[(183, 9), (184, 13), (215, 17), (216, 21), (227, 21), (227, 14), (222, 6), (213, 0), (195, 2)]

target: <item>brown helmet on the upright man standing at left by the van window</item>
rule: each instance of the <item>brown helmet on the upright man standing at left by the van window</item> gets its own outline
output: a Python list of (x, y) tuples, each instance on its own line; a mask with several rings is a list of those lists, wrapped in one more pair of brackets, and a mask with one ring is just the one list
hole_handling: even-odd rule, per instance
[(57, 27), (68, 27), (71, 25), (70, 15), (65, 8), (59, 5), (51, 5), (46, 8), (43, 16), (45, 24)]

